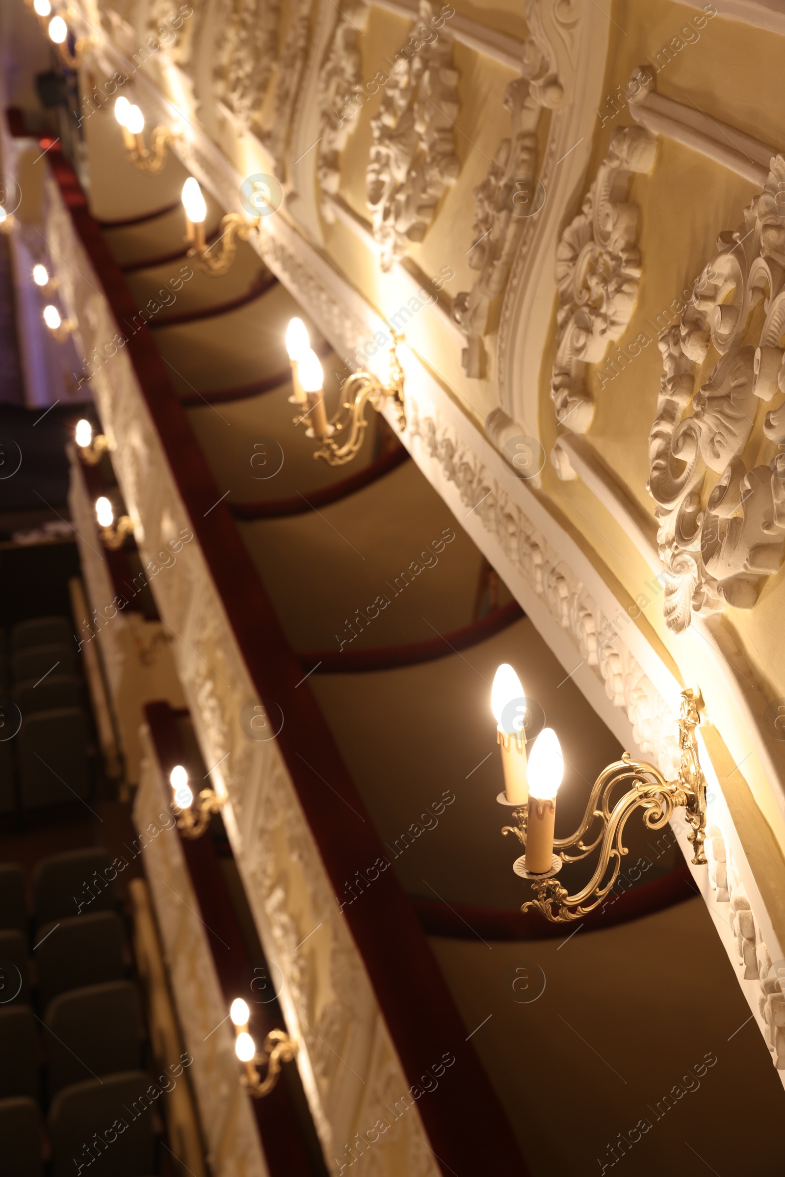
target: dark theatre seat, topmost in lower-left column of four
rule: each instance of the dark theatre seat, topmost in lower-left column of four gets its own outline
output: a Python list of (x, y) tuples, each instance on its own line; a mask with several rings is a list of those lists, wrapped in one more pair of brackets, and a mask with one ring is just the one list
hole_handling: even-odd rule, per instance
[[(42, 858), (33, 875), (33, 910), (39, 925), (80, 913), (113, 911), (112, 858), (101, 846), (64, 850)], [(97, 877), (98, 876), (98, 877)]]

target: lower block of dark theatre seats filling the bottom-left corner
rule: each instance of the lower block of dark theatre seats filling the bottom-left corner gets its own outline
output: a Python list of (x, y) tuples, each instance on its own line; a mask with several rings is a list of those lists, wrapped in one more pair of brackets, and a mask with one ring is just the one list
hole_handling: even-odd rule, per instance
[[(0, 866), (0, 1173), (145, 1177), (155, 1171), (157, 1096), (141, 1070), (139, 993), (102, 849)], [(32, 936), (32, 939), (31, 939)], [(38, 1010), (31, 1002), (33, 945)]]

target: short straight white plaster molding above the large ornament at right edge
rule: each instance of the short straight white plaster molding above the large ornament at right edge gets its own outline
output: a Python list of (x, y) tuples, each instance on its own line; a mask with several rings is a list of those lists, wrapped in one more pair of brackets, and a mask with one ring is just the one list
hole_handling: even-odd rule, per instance
[(664, 98), (654, 91), (653, 78), (650, 77), (639, 94), (630, 98), (630, 113), (653, 134), (666, 135), (706, 155), (760, 188), (765, 185), (771, 158), (776, 154), (773, 147), (710, 117), (697, 105), (686, 106)]

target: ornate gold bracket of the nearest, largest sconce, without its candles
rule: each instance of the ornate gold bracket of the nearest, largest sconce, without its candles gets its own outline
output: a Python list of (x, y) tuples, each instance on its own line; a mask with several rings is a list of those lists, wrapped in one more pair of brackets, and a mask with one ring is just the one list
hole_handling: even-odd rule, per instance
[[(703, 700), (692, 691), (681, 692), (681, 712), (679, 716), (679, 747), (681, 762), (674, 780), (665, 777), (652, 764), (632, 760), (627, 752), (620, 760), (604, 769), (592, 786), (583, 822), (568, 838), (556, 838), (553, 842), (554, 866), (541, 876), (525, 875), (532, 879), (532, 890), (537, 898), (530, 899), (521, 911), (535, 909), (551, 923), (568, 923), (581, 919), (599, 906), (613, 887), (621, 865), (621, 858), (627, 853), (623, 843), (624, 827), (633, 810), (644, 811), (644, 823), (650, 830), (660, 830), (671, 818), (673, 811), (685, 809), (688, 834), (692, 843), (696, 865), (704, 865), (704, 838), (706, 826), (706, 779), (698, 758), (696, 727), (700, 723)], [(627, 791), (613, 800), (616, 790), (627, 784)], [(528, 806), (520, 805), (513, 810), (515, 825), (506, 825), (503, 833), (512, 833), (526, 845), (526, 823)], [(599, 825), (598, 825), (599, 824)], [(561, 863), (577, 863), (586, 858), (599, 846), (597, 869), (583, 890), (568, 895), (567, 889), (553, 877), (561, 869)], [(574, 851), (568, 853), (568, 851)], [(557, 857), (558, 856), (558, 857)], [(519, 860), (520, 862), (520, 860)], [(518, 869), (517, 873), (524, 873)]]

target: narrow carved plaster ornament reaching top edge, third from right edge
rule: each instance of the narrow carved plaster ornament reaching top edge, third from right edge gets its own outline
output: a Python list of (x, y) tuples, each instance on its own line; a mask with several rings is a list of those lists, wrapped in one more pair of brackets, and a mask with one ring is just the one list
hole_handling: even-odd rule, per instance
[[(455, 295), (452, 317), (466, 335), (461, 360), (466, 375), (485, 374), (483, 337), (491, 301), (501, 294), (525, 230), (535, 215), (537, 127), (544, 108), (560, 109), (572, 98), (577, 0), (527, 0), (526, 22), (532, 35), (524, 42), (521, 77), (510, 82), (504, 106), (510, 112), (510, 137), (501, 140), (485, 180), (474, 188), (474, 224), (468, 265), (478, 271), (471, 291)], [(524, 200), (515, 199), (518, 195)]]

